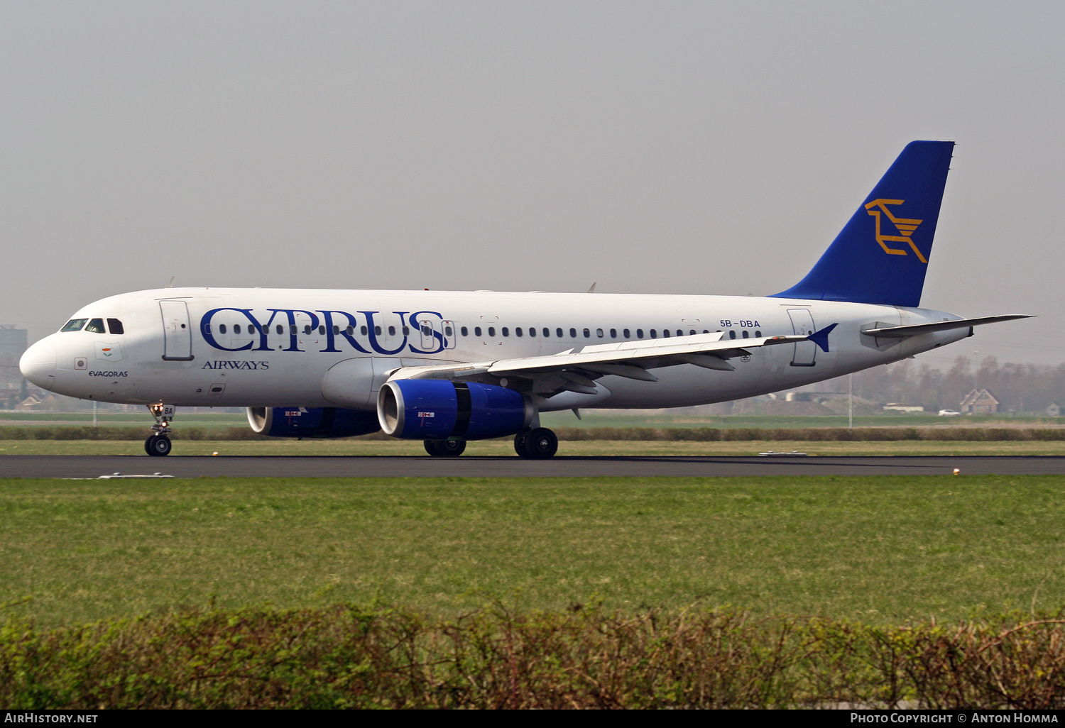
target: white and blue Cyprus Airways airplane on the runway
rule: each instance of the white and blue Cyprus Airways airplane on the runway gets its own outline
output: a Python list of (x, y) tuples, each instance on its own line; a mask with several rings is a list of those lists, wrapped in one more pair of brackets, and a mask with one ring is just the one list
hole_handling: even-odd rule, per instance
[(33, 344), (45, 390), (145, 404), (170, 452), (178, 407), (244, 407), (279, 437), (382, 430), (435, 457), (514, 437), (553, 457), (540, 414), (752, 397), (913, 358), (973, 327), (920, 308), (952, 142), (912, 142), (809, 272), (764, 298), (161, 288), (85, 305)]

